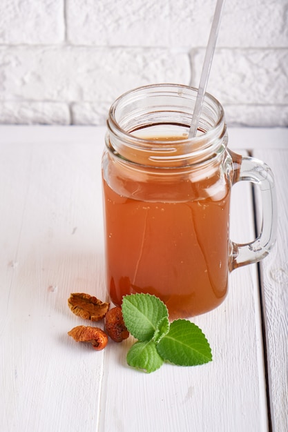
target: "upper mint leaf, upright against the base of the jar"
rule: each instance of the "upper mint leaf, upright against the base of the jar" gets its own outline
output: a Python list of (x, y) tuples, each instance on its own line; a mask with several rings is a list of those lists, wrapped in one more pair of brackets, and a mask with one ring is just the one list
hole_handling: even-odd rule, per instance
[(122, 315), (131, 335), (144, 342), (152, 339), (163, 317), (168, 319), (168, 310), (155, 295), (131, 294), (123, 297)]

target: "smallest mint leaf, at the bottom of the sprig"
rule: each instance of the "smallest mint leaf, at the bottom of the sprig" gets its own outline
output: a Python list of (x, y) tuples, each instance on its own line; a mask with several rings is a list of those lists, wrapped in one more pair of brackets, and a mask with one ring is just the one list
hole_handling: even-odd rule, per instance
[(128, 351), (127, 363), (129, 366), (151, 373), (162, 366), (163, 360), (157, 353), (153, 341), (136, 342)]

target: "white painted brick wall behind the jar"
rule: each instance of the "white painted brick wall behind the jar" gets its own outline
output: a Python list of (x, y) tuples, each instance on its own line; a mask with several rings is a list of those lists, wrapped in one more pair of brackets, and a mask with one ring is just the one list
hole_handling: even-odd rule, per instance
[[(0, 123), (104, 124), (122, 92), (198, 86), (216, 0), (1, 0)], [(288, 0), (227, 0), (207, 90), (288, 126)]]

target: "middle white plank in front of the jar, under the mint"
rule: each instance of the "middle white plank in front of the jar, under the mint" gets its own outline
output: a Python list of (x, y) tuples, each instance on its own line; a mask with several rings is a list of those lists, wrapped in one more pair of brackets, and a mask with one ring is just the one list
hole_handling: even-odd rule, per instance
[(131, 342), (106, 351), (99, 431), (267, 431), (262, 339), (251, 314), (255, 285), (252, 269), (238, 270), (225, 304), (193, 320), (211, 343), (211, 364), (166, 364), (144, 375), (127, 369)]

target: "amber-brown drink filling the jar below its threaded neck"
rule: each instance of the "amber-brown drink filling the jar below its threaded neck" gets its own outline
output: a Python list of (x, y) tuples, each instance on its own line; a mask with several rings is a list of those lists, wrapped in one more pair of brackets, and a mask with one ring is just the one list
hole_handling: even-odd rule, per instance
[(165, 199), (157, 196), (157, 178), (135, 184), (133, 194), (121, 168), (112, 169), (112, 175), (122, 183), (119, 192), (104, 179), (112, 302), (120, 305), (124, 295), (151, 293), (165, 302), (171, 319), (218, 306), (227, 294), (229, 262), (229, 191), (218, 172), (200, 184), (188, 179), (181, 186), (175, 180)]

